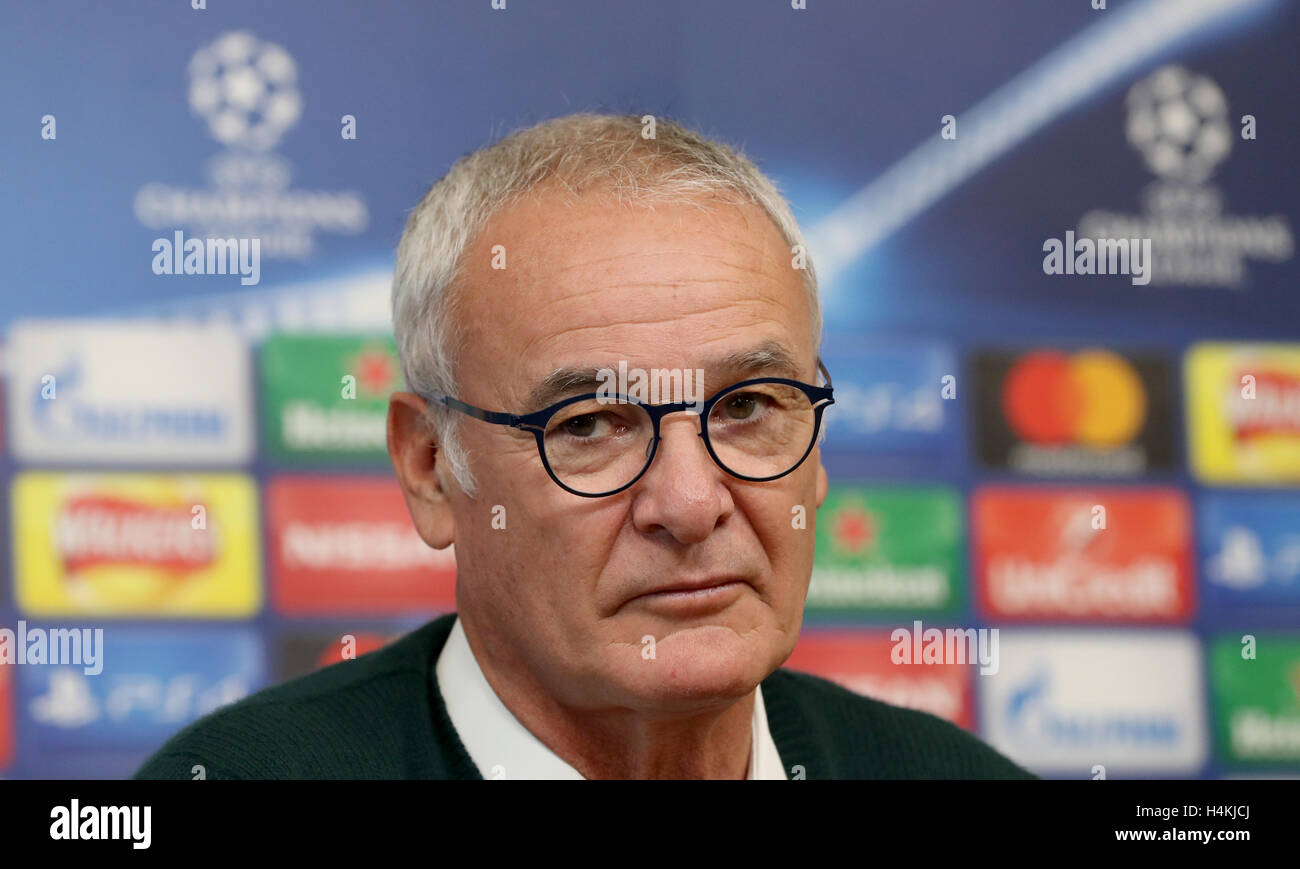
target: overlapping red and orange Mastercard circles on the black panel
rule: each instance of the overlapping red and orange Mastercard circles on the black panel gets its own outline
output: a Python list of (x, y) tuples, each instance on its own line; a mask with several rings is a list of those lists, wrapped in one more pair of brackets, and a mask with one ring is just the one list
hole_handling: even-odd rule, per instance
[(1141, 379), (1106, 350), (1026, 354), (1006, 372), (1001, 401), (1015, 436), (1043, 446), (1122, 446), (1147, 421)]

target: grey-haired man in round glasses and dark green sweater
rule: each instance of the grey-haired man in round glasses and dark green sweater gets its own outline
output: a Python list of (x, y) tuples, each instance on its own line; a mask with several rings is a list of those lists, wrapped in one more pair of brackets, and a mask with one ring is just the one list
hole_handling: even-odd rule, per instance
[(649, 121), (516, 133), (407, 224), (389, 451), (420, 536), (455, 544), (458, 613), (218, 710), (138, 775), (1030, 778), (780, 669), (827, 492), (816, 282), (749, 160)]

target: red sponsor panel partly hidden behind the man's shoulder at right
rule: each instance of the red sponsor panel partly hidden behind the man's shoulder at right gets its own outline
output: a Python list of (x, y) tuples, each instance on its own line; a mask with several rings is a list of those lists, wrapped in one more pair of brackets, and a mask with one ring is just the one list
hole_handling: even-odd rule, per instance
[(928, 712), (967, 730), (974, 727), (970, 666), (897, 665), (890, 658), (893, 648), (888, 631), (806, 632), (784, 666), (896, 706)]

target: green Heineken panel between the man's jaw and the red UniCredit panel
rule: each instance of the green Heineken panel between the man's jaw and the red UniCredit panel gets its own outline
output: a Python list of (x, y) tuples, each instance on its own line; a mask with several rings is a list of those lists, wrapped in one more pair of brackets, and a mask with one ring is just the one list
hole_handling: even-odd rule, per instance
[(961, 542), (956, 490), (831, 487), (816, 514), (809, 610), (953, 610)]

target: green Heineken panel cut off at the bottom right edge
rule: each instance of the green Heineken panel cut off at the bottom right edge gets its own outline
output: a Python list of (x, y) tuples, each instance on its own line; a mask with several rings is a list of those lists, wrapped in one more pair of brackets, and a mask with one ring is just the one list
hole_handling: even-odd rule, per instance
[(1300, 635), (1252, 636), (1253, 648), (1239, 636), (1219, 637), (1210, 656), (1219, 755), (1239, 764), (1300, 764)]

